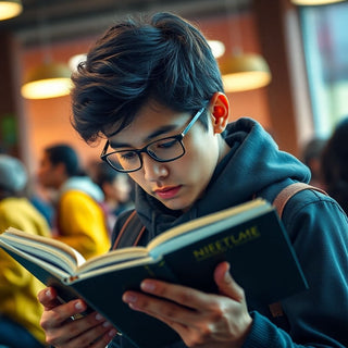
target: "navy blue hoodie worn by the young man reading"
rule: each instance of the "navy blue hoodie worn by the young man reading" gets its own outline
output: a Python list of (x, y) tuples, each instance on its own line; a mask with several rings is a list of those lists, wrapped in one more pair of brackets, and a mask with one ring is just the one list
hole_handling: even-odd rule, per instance
[[(188, 220), (263, 197), (271, 202), (293, 182), (308, 183), (310, 172), (279, 151), (260, 124), (240, 119), (226, 129), (229, 153), (219, 163), (204, 195), (182, 214), (136, 188), (135, 207), (147, 233), (145, 245), (163, 231)], [(120, 231), (122, 219), (114, 229)], [(309, 289), (282, 301), (285, 315), (273, 319), (268, 303), (249, 303), (253, 318), (243, 348), (348, 347), (348, 222), (330, 197), (304, 190), (291, 198), (283, 222), (299, 258)], [(232, 265), (233, 274), (233, 265)], [(110, 348), (133, 345), (114, 338)], [(171, 348), (186, 347), (177, 343)]]

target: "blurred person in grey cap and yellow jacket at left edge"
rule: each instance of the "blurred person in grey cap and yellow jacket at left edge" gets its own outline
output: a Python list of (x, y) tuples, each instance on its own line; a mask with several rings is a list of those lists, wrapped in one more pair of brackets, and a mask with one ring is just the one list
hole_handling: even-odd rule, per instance
[[(9, 226), (30, 234), (50, 236), (41, 213), (22, 196), (27, 184), (23, 163), (0, 154), (0, 233)], [(45, 347), (39, 325), (44, 311), (37, 294), (44, 285), (0, 249), (0, 346), (11, 348)]]

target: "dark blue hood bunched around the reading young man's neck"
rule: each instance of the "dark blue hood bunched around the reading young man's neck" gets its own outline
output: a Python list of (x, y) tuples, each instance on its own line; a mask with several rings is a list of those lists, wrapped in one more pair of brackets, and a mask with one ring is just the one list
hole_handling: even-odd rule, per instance
[(192, 208), (171, 211), (136, 186), (135, 206), (151, 238), (183, 222), (226, 209), (287, 179), (308, 183), (309, 169), (281, 151), (273, 138), (251, 119), (228, 124), (225, 140), (229, 153), (217, 164), (204, 195)]

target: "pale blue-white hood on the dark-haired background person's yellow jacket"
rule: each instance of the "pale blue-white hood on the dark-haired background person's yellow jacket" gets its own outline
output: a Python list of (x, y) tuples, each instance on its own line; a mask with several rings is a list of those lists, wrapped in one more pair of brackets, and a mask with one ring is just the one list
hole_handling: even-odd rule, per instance
[(101, 188), (88, 176), (70, 177), (60, 188), (59, 196), (62, 196), (67, 190), (78, 190), (85, 192), (99, 203), (104, 199)]

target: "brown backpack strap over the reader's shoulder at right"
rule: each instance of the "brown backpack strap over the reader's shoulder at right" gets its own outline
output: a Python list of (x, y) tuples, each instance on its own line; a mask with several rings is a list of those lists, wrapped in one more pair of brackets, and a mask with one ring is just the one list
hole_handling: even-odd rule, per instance
[[(290, 200), (290, 198), (295, 196), (297, 192), (302, 191), (303, 189), (312, 189), (327, 196), (327, 194), (323, 189), (311, 186), (309, 184), (304, 184), (304, 183), (290, 184), (285, 188), (283, 188), (273, 200), (273, 206), (275, 207), (279, 215), (279, 219), (282, 219), (284, 208), (286, 203)], [(269, 308), (273, 318), (278, 318), (284, 315), (281, 302), (271, 303), (269, 304)]]

